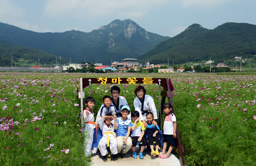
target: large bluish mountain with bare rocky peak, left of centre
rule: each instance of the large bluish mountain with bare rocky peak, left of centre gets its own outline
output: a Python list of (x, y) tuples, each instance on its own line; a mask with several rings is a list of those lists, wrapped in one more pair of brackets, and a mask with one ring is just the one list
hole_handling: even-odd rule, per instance
[(72, 63), (86, 61), (110, 64), (126, 57), (136, 58), (169, 39), (147, 32), (130, 19), (116, 19), (92, 32), (67, 31), (38, 33), (0, 23), (0, 43), (20, 45), (71, 58)]

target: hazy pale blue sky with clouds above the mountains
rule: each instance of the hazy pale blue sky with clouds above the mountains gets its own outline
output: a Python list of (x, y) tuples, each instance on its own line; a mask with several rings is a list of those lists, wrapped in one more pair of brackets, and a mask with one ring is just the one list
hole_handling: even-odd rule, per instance
[(192, 24), (256, 25), (256, 0), (0, 0), (0, 22), (34, 32), (91, 32), (131, 19), (148, 32), (174, 37)]

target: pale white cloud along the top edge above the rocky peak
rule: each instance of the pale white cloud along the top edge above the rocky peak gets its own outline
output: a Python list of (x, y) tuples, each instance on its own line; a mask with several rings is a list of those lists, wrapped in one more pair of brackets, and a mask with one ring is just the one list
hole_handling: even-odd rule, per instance
[(168, 0), (47, 0), (44, 15), (51, 17), (142, 17), (151, 8), (168, 3)]

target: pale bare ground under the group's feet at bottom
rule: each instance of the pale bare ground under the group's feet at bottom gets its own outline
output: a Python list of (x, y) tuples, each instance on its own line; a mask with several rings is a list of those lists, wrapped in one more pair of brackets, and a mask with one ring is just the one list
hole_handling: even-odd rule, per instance
[[(106, 161), (104, 162), (101, 159), (101, 153), (96, 153), (97, 148), (94, 148), (93, 157), (92, 157), (92, 166), (181, 166), (180, 160), (175, 157), (175, 155), (171, 154), (168, 159), (161, 159), (159, 157), (151, 157), (150, 151), (147, 149), (144, 151), (144, 159), (134, 159), (132, 157), (132, 151), (125, 155), (124, 159), (118, 159), (115, 161)], [(136, 147), (136, 152), (139, 151), (139, 147)], [(161, 151), (159, 151), (161, 153)], [(138, 153), (137, 153), (138, 154)]]

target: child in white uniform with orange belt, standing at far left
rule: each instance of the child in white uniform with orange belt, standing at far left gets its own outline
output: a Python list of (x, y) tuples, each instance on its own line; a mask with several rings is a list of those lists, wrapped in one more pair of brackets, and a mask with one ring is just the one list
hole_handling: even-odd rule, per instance
[(92, 154), (92, 143), (93, 143), (93, 135), (94, 135), (94, 103), (95, 100), (93, 97), (87, 97), (85, 99), (86, 109), (83, 110), (83, 118), (84, 118), (84, 130), (85, 130), (85, 156), (88, 157)]

